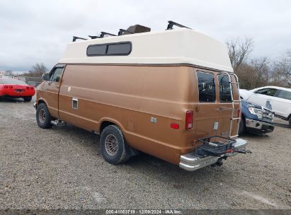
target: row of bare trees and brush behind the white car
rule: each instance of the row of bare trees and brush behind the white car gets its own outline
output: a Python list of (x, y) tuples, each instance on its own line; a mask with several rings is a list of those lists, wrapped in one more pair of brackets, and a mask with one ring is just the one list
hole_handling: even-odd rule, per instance
[(240, 88), (291, 88), (291, 50), (287, 50), (278, 59), (271, 60), (268, 57), (250, 57), (253, 40), (249, 37), (227, 40), (226, 43), (234, 73), (239, 77)]

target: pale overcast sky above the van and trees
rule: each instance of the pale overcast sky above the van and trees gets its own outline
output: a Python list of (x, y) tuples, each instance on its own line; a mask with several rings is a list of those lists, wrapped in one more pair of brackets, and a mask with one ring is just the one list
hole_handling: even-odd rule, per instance
[(291, 48), (291, 1), (0, 0), (0, 70), (51, 69), (73, 35), (141, 24), (164, 30), (172, 20), (225, 42), (252, 37), (255, 57), (276, 59)]

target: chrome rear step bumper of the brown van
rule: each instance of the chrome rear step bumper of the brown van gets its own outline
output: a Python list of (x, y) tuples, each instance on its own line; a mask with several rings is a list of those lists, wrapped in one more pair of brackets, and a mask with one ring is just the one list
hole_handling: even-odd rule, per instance
[[(236, 149), (246, 149), (248, 143), (244, 139), (236, 139), (236, 142), (232, 144)], [(219, 158), (235, 156), (237, 152), (227, 153), (221, 157), (215, 156), (199, 156), (196, 153), (187, 153), (180, 156), (180, 168), (188, 171), (195, 171), (205, 166), (217, 163)]]

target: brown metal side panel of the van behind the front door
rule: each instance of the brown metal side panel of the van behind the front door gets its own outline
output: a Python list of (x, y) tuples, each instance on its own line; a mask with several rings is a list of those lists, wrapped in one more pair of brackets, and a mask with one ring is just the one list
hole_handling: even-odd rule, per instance
[[(185, 135), (191, 70), (68, 64), (59, 90), (60, 120), (96, 132), (103, 120), (115, 120), (130, 146), (178, 164), (181, 153), (193, 149), (194, 134), (190, 141)], [(77, 110), (72, 98), (78, 98)], [(171, 123), (180, 128), (171, 129)]]

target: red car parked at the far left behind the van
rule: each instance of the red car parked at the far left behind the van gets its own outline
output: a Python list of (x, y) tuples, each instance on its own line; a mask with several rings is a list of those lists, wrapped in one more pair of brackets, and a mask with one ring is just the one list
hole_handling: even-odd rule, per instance
[(33, 95), (35, 95), (35, 88), (24, 81), (0, 78), (0, 98), (23, 98), (25, 102), (30, 102)]

